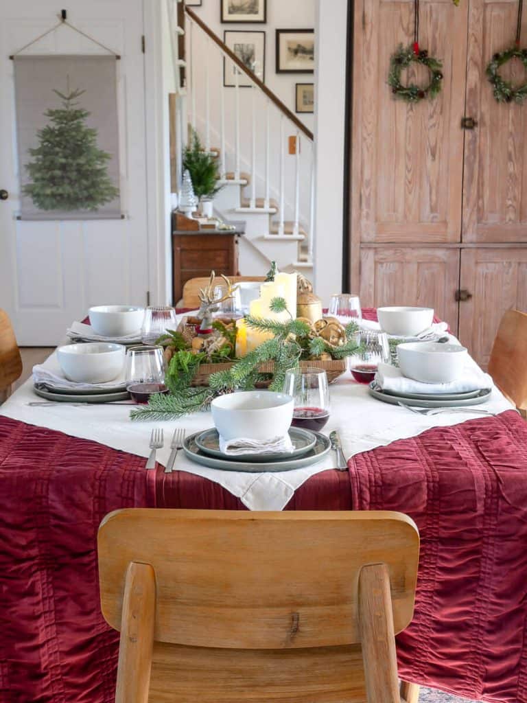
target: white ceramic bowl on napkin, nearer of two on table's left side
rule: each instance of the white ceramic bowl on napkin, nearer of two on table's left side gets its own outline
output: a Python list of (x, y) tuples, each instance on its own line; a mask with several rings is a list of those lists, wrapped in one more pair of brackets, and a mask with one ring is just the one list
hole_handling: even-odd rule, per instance
[(66, 344), (58, 347), (57, 358), (70, 381), (104, 383), (117, 378), (124, 366), (126, 347), (108, 342)]

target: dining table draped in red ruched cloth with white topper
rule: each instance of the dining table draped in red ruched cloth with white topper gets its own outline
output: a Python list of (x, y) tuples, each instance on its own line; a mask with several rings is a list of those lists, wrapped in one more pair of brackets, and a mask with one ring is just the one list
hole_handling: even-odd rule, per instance
[[(129, 406), (34, 407), (25, 382), (0, 406), (0, 703), (113, 701), (119, 633), (100, 612), (97, 531), (133, 507), (404, 512), (421, 548), (401, 678), (527, 703), (526, 422), (495, 387), (488, 415), (388, 406), (348, 372), (330, 393), (324, 432), (339, 430), (347, 470), (326, 458), (218, 472), (178, 455), (166, 473), (171, 433), (211, 427), (209, 413), (139, 423)], [(157, 425), (166, 446), (145, 470)]]

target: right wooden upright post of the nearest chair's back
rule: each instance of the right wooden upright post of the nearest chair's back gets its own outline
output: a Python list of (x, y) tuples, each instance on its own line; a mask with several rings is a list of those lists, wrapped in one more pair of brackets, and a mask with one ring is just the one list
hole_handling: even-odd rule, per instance
[(358, 619), (368, 703), (400, 703), (390, 578), (385, 564), (360, 569)]

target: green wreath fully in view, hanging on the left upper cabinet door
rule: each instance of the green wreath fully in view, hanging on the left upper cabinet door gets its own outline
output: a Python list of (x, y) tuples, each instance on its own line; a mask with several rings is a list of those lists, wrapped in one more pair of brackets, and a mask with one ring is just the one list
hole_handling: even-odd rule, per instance
[[(430, 82), (427, 86), (418, 86), (415, 83), (405, 86), (401, 83), (401, 72), (403, 68), (408, 68), (410, 63), (421, 63), (426, 66), (430, 72)], [(390, 59), (390, 72), (388, 74), (388, 84), (391, 87), (391, 92), (396, 98), (401, 98), (406, 103), (418, 103), (424, 98), (435, 98), (441, 92), (441, 81), (443, 73), (441, 69), (443, 64), (437, 58), (428, 55), (428, 51), (422, 50), (417, 52), (414, 50), (414, 45), (403, 46), (399, 44), (399, 48), (392, 54)]]

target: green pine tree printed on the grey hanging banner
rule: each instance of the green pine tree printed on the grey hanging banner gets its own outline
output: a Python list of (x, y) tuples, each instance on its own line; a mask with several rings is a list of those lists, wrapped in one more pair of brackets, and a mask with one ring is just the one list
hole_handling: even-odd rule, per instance
[(75, 102), (86, 91), (70, 91), (68, 80), (66, 94), (53, 92), (63, 106), (44, 113), (49, 123), (37, 132), (39, 146), (29, 150), (32, 182), (22, 191), (43, 210), (96, 210), (119, 195), (108, 176), (111, 155), (98, 148), (97, 130), (86, 125), (90, 112)]

